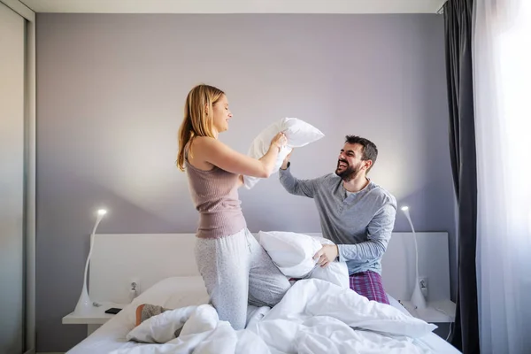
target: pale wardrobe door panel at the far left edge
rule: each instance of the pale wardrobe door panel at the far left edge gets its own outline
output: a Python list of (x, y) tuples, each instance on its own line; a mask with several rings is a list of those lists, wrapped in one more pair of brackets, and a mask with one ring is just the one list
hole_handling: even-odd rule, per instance
[(24, 341), (25, 19), (0, 3), (0, 353)]

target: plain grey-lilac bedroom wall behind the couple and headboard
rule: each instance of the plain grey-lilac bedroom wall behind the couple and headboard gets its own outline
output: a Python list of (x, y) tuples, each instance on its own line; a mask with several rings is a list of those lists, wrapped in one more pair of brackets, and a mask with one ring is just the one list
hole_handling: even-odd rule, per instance
[[(110, 210), (101, 233), (195, 231), (174, 161), (201, 81), (226, 90), (235, 117), (221, 139), (241, 152), (282, 117), (319, 127), (326, 137), (293, 155), (296, 176), (333, 171), (346, 134), (372, 139), (373, 181), (418, 230), (450, 232), (455, 284), (442, 17), (38, 14), (38, 351), (85, 334), (61, 318), (81, 292), (96, 207)], [(319, 231), (312, 200), (277, 175), (241, 197), (251, 231)], [(402, 214), (395, 230), (409, 231)]]

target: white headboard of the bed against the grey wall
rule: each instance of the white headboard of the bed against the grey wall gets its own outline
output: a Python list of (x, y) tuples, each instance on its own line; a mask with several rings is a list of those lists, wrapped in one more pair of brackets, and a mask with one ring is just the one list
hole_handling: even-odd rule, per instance
[[(309, 233), (307, 235), (320, 235)], [(417, 233), (419, 276), (427, 277), (428, 301), (450, 299), (447, 233)], [(140, 292), (172, 276), (199, 275), (194, 234), (98, 234), (90, 260), (89, 293), (94, 301), (127, 303), (131, 281)], [(412, 233), (393, 233), (382, 258), (386, 291), (411, 297), (415, 276)]]

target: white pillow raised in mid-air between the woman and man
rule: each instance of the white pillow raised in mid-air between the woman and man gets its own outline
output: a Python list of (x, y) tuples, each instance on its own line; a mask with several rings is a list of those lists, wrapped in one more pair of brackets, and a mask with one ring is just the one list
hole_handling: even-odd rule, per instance
[[(311, 142), (316, 142), (325, 136), (318, 128), (313, 127), (311, 124), (306, 123), (304, 120), (296, 118), (283, 118), (266, 129), (262, 130), (260, 134), (251, 142), (248, 155), (251, 158), (262, 158), (266, 155), (271, 140), (274, 135), (280, 132), (284, 132), (288, 138), (286, 147), (281, 149), (276, 159), (273, 173), (276, 173), (281, 168), (284, 158), (286, 158), (293, 150), (293, 148), (301, 148)], [(246, 189), (251, 189), (258, 183), (260, 178), (243, 176), (244, 186)]]

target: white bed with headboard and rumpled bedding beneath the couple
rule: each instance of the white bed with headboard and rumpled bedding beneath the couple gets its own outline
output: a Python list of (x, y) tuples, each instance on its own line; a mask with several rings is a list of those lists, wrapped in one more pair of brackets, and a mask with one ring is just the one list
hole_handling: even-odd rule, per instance
[[(430, 247), (440, 247), (440, 245), (436, 243), (444, 239), (444, 235), (441, 234), (442, 233), (420, 234), (419, 250), (427, 250)], [(394, 243), (389, 243), (389, 257), (386, 259), (386, 262), (384, 262), (384, 267), (386, 266), (386, 263), (387, 266), (391, 267), (396, 266), (396, 262), (404, 262), (404, 258), (409, 259), (409, 253), (406, 250), (409, 250), (408, 242), (411, 242), (411, 235), (393, 235), (393, 237), (395, 236)], [(343, 350), (345, 348), (350, 348), (349, 346), (345, 347), (345, 345), (350, 343), (349, 341), (351, 341), (352, 345), (358, 345), (358, 349), (354, 351), (349, 350), (347, 352), (378, 353), (382, 352), (381, 350), (383, 350), (383, 348), (386, 348), (383, 352), (419, 352), (435, 354), (459, 353), (458, 350), (448, 342), (444, 341), (443, 338), (435, 335), (431, 331), (426, 331), (425, 335), (421, 335), (415, 339), (412, 339), (412, 337), (408, 335), (393, 335), (391, 333), (392, 330), (394, 330), (393, 328), (398, 328), (398, 331), (400, 331), (407, 327), (413, 332), (416, 331), (415, 333), (419, 333), (419, 330), (425, 330), (426, 328), (420, 326), (419, 322), (413, 322), (414, 318), (412, 315), (396, 300), (396, 294), (400, 294), (400, 289), (408, 288), (408, 281), (404, 279), (395, 279), (394, 281), (389, 281), (388, 287), (385, 277), (384, 284), (386, 285), (386, 290), (388, 288), (391, 289), (391, 291), (388, 291), (391, 306), (381, 304), (381, 306), (386, 306), (386, 308), (371, 309), (368, 304), (363, 303), (363, 300), (360, 300), (359, 298), (352, 299), (352, 301), (357, 303), (345, 303), (344, 306), (347, 310), (358, 308), (360, 312), (365, 311), (365, 315), (378, 313), (378, 311), (382, 311), (382, 313), (385, 312), (383, 318), (385, 318), (387, 322), (386, 320), (381, 322), (367, 321), (367, 318), (364, 318), (361, 322), (358, 321), (358, 324), (363, 322), (359, 327), (358, 325), (351, 325), (351, 327), (348, 327), (345, 326), (344, 323), (340, 323), (341, 321), (326, 316), (329, 314), (328, 312), (318, 313), (319, 310), (315, 310), (314, 308), (311, 311), (312, 316), (306, 316), (307, 313), (305, 313), (304, 326), (308, 327), (304, 328), (310, 329), (307, 333), (304, 333), (304, 338), (300, 333), (296, 334), (294, 332), (290, 334), (289, 331), (295, 328), (294, 323), (298, 320), (298, 317), (295, 312), (291, 314), (286, 314), (286, 312), (294, 309), (298, 305), (297, 303), (304, 303), (304, 300), (302, 300), (304, 296), (309, 296), (308, 294), (311, 294), (312, 291), (314, 291), (315, 294), (310, 295), (309, 297), (315, 300), (320, 293), (329, 296), (329, 294), (332, 294), (334, 291), (340, 291), (335, 289), (339, 287), (327, 283), (326, 281), (316, 282), (317, 280), (309, 280), (305, 282), (297, 281), (297, 288), (294, 286), (289, 290), (289, 293), (292, 292), (293, 294), (289, 295), (288, 293), (287, 296), (285, 296), (284, 300), (286, 300), (286, 303), (281, 303), (284, 306), (281, 310), (277, 309), (277, 307), (281, 308), (281, 304), (275, 306), (273, 309), (254, 308), (250, 306), (248, 311), (247, 330), (234, 333), (234, 331), (231, 332), (232, 328), (223, 329), (219, 326), (219, 334), (213, 335), (210, 338), (210, 343), (208, 340), (205, 340), (199, 345), (199, 340), (197, 338), (200, 336), (197, 335), (190, 340), (192, 342), (191, 344), (182, 341), (178, 343), (179, 345), (175, 344), (175, 341), (173, 341), (173, 344), (175, 345), (170, 345), (168, 343), (149, 344), (128, 341), (127, 335), (131, 333), (133, 328), (135, 328), (135, 310), (139, 304), (159, 304), (169, 309), (178, 309), (173, 312), (178, 312), (181, 309), (187, 308), (198, 311), (199, 309), (204, 310), (205, 306), (209, 306), (207, 304), (208, 296), (204, 289), (204, 283), (196, 271), (195, 260), (193, 258), (193, 245), (195, 242), (194, 235), (96, 235), (95, 237), (95, 246), (90, 264), (89, 278), (90, 296), (92, 299), (96, 302), (127, 303), (127, 284), (132, 280), (138, 282), (141, 293), (132, 302), (126, 304), (121, 312), (107, 321), (102, 327), (96, 329), (96, 331), (89, 335), (85, 340), (69, 350), (67, 352), (68, 354), (121, 354), (125, 352), (139, 354), (177, 352), (253, 352), (257, 354), (261, 352), (270, 352), (271, 354), (285, 352), (339, 353), (344, 352)], [(435, 239), (438, 241), (435, 241)], [(419, 264), (428, 259), (430, 258), (419, 258)], [(402, 268), (404, 268), (405, 271), (409, 270), (409, 262), (405, 262)], [(441, 272), (439, 269), (437, 271), (438, 276), (440, 276), (441, 273), (444, 272)], [(327, 288), (328, 285), (335, 288), (329, 289)], [(350, 291), (350, 293), (354, 292)], [(337, 297), (339, 299), (345, 297), (339, 293), (337, 293), (337, 295), (339, 296)], [(431, 295), (436, 297), (435, 291), (434, 294)], [(284, 302), (284, 300), (282, 301)], [(321, 301), (319, 304), (326, 303), (326, 301), (323, 300), (319, 301)], [(332, 301), (331, 303), (336, 304), (337, 302)], [(308, 300), (308, 304), (304, 304), (301, 309), (307, 311), (311, 306), (312, 304), (310, 304), (310, 300)], [(337, 309), (332, 308), (329, 308), (328, 311), (338, 312)], [(398, 316), (396, 312), (400, 312), (400, 316), (403, 317)], [(167, 314), (170, 315), (172, 312), (167, 312)], [(344, 315), (350, 316), (350, 314)], [(359, 316), (363, 317), (364, 314), (352, 313), (351, 315), (352, 318)], [(341, 314), (335, 317), (340, 318)], [(308, 323), (310, 323), (308, 321), (315, 323), (308, 325)], [(345, 321), (347, 322), (348, 320)], [(323, 325), (323, 322), (326, 323), (326, 326)], [(391, 335), (386, 332), (386, 327), (380, 327), (381, 324), (391, 328), (389, 332)], [(297, 322), (297, 326), (298, 325), (301, 325), (300, 321)], [(342, 330), (344, 331), (344, 328), (341, 326), (348, 327), (348, 332), (342, 332)], [(355, 329), (352, 329), (352, 327)], [(255, 329), (250, 330), (249, 328)], [(301, 327), (299, 326), (298, 328)], [(383, 329), (381, 330), (381, 328)], [(183, 328), (182, 331), (184, 330), (185, 329)], [(226, 332), (223, 332), (224, 330)], [(327, 331), (331, 332), (326, 336), (322, 336), (322, 334)], [(250, 334), (247, 335), (247, 333)], [(345, 335), (353, 334), (358, 335), (358, 337), (345, 337)], [(182, 335), (182, 337), (184, 338), (185, 336)], [(233, 342), (230, 342), (231, 338)], [(292, 342), (297, 343), (296, 345), (298, 346), (295, 348), (293, 346), (295, 344)], [(250, 343), (253, 345), (252, 350), (249, 350), (250, 347), (246, 347), (250, 345)], [(336, 351), (329, 351), (332, 347), (334, 347)], [(212, 350), (212, 348), (215, 348), (215, 350)], [(287, 350), (287, 348), (289, 348), (289, 350)]]

